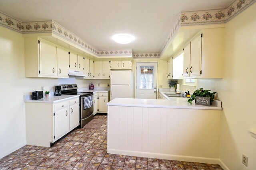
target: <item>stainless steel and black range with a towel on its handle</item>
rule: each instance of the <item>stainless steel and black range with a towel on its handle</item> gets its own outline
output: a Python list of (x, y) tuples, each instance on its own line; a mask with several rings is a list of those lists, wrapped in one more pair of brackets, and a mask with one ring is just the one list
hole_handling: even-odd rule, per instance
[(80, 128), (93, 119), (93, 93), (77, 92), (77, 84), (60, 84), (62, 94), (80, 95)]

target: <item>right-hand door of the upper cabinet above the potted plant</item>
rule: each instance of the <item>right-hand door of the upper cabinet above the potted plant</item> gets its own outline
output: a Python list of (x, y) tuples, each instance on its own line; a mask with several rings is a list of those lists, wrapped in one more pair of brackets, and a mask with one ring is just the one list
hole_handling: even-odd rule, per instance
[(202, 37), (198, 35), (191, 41), (190, 76), (200, 76), (201, 71)]

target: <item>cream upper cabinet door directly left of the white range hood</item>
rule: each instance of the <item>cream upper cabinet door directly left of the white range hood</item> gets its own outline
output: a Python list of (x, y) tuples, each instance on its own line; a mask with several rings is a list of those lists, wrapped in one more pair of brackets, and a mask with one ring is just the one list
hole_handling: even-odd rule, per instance
[(68, 65), (68, 50), (62, 47), (57, 47), (57, 76), (68, 78)]

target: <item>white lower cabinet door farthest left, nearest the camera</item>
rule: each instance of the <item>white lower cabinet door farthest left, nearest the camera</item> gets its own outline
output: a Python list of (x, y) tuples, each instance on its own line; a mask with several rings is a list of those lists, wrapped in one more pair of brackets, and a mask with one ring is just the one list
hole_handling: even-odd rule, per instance
[(60, 109), (55, 111), (54, 116), (54, 136), (55, 141), (64, 136), (69, 131), (69, 108)]

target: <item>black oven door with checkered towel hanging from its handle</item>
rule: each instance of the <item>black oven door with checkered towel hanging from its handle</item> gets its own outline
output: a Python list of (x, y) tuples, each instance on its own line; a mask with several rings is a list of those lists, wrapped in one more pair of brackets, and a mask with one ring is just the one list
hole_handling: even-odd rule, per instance
[(81, 96), (80, 104), (80, 118), (83, 119), (93, 113), (93, 94)]

